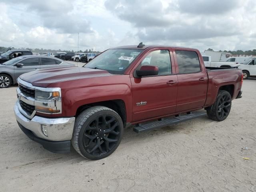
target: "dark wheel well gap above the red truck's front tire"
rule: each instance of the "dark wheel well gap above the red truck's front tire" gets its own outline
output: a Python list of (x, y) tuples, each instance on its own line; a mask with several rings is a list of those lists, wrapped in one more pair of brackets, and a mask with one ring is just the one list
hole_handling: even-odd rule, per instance
[(125, 107), (125, 103), (123, 100), (120, 100), (120, 99), (108, 100), (108, 101), (101, 101), (101, 102), (82, 105), (82, 106), (78, 107), (78, 109), (76, 110), (76, 117), (84, 110), (86, 110), (90, 107), (93, 107), (93, 106), (104, 106), (104, 107), (114, 110), (121, 117), (121, 119), (124, 123), (124, 127), (126, 126), (126, 107)]

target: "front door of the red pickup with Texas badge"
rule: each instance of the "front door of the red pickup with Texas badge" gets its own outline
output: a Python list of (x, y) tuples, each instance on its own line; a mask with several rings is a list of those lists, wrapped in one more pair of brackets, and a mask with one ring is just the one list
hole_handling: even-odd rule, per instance
[(171, 48), (150, 50), (139, 61), (136, 70), (143, 65), (157, 66), (158, 75), (134, 77), (132, 82), (132, 121), (174, 114), (177, 103), (178, 78), (175, 72)]

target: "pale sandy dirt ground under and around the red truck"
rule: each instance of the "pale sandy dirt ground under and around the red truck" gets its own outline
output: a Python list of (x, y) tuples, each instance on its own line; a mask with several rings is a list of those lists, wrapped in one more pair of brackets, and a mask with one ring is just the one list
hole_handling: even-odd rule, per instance
[(223, 122), (202, 117), (143, 134), (127, 128), (112, 155), (91, 161), (30, 140), (14, 117), (16, 86), (0, 89), (0, 191), (256, 192), (256, 79), (242, 90)]

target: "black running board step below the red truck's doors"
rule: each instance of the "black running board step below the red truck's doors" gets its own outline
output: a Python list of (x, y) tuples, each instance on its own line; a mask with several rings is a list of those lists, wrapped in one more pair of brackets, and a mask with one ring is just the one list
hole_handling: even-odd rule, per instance
[(194, 118), (198, 118), (201, 116), (205, 116), (206, 112), (193, 112), (190, 114), (186, 114), (186, 115), (182, 115), (182, 116), (178, 116), (178, 117), (174, 117), (174, 118), (168, 118), (168, 119), (164, 119), (164, 120), (160, 120), (160, 121), (154, 121), (154, 122), (150, 122), (147, 124), (143, 124), (143, 125), (139, 125), (133, 128), (133, 130), (136, 133), (142, 133), (142, 132), (146, 132), (149, 130), (154, 130), (154, 129), (159, 129), (162, 127), (166, 127), (166, 126), (170, 126), (170, 125), (174, 125), (174, 124), (178, 124), (181, 122), (185, 122)]

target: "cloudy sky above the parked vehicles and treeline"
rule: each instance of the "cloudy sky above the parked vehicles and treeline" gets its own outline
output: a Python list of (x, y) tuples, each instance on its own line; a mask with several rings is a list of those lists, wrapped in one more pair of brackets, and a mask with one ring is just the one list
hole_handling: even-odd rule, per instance
[(0, 0), (0, 46), (256, 48), (256, 0)]

